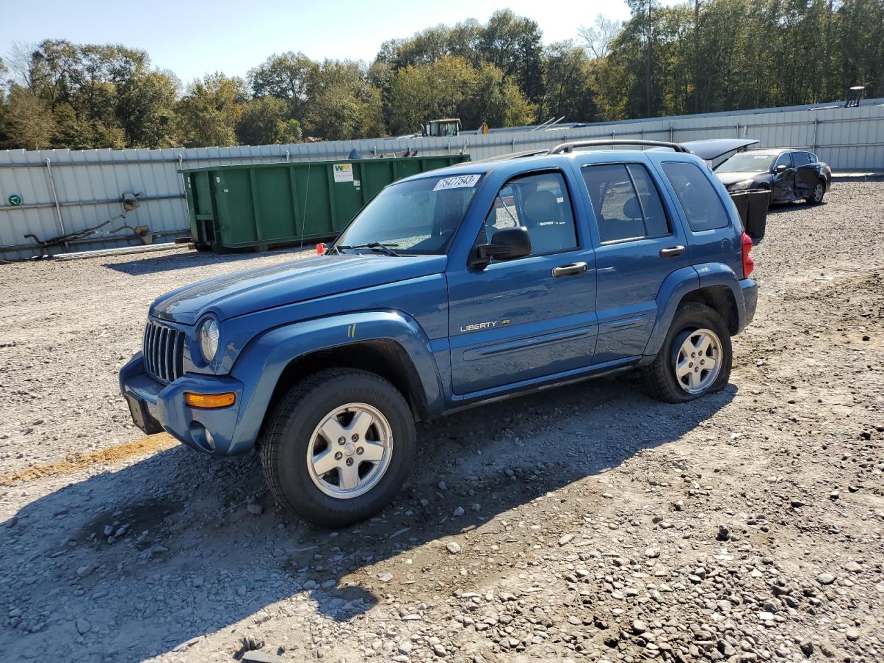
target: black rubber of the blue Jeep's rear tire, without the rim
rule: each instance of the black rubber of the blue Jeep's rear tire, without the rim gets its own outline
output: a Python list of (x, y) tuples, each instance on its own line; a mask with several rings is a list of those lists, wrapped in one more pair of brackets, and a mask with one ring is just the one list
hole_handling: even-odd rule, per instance
[[(702, 392), (690, 393), (685, 391), (675, 375), (675, 362), (685, 339), (691, 335), (691, 332), (701, 329), (713, 331), (720, 341), (720, 370), (718, 377), (715, 377)], [(666, 339), (663, 341), (663, 347), (660, 348), (654, 361), (644, 367), (645, 384), (654, 398), (667, 403), (683, 403), (724, 388), (730, 378), (732, 362), (730, 332), (721, 316), (705, 304), (694, 302), (682, 304), (675, 312)]]

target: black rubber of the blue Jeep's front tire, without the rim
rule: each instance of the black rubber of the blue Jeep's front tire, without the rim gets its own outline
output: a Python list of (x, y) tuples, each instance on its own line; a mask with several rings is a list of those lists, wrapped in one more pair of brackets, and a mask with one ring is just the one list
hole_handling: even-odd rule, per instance
[[(316, 426), (347, 403), (365, 403), (384, 415), (392, 455), (368, 492), (349, 499), (323, 492), (310, 476), (308, 449)], [(337, 528), (376, 514), (400, 491), (415, 456), (415, 420), (408, 403), (383, 377), (365, 370), (322, 370), (294, 385), (279, 401), (261, 444), (261, 465), (273, 496), (309, 522)]]

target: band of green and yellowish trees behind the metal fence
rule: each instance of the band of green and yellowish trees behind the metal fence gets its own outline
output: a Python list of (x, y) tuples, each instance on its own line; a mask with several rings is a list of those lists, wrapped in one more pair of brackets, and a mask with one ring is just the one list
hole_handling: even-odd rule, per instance
[(183, 87), (120, 44), (13, 43), (0, 148), (164, 148), (465, 130), (812, 104), (884, 95), (884, 0), (628, 0), (577, 42), (544, 45), (513, 11), (384, 42), (370, 64), (272, 55), (247, 80)]

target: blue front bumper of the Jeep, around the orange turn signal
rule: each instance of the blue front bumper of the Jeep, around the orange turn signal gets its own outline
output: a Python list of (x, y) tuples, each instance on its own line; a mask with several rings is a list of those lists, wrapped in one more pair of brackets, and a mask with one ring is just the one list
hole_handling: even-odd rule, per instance
[[(187, 446), (216, 455), (245, 453), (254, 444), (254, 439), (236, 437), (243, 385), (233, 377), (188, 373), (163, 385), (148, 375), (138, 353), (119, 371), (119, 389), (133, 423), (148, 434), (166, 431)], [(236, 400), (227, 408), (191, 408), (184, 402), (184, 392), (233, 392)]]

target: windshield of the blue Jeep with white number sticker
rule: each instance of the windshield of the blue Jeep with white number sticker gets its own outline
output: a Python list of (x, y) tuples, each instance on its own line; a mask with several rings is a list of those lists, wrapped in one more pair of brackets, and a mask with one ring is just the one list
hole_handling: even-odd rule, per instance
[(382, 244), (395, 253), (443, 254), (476, 194), (481, 175), (392, 184), (354, 218), (335, 247)]

